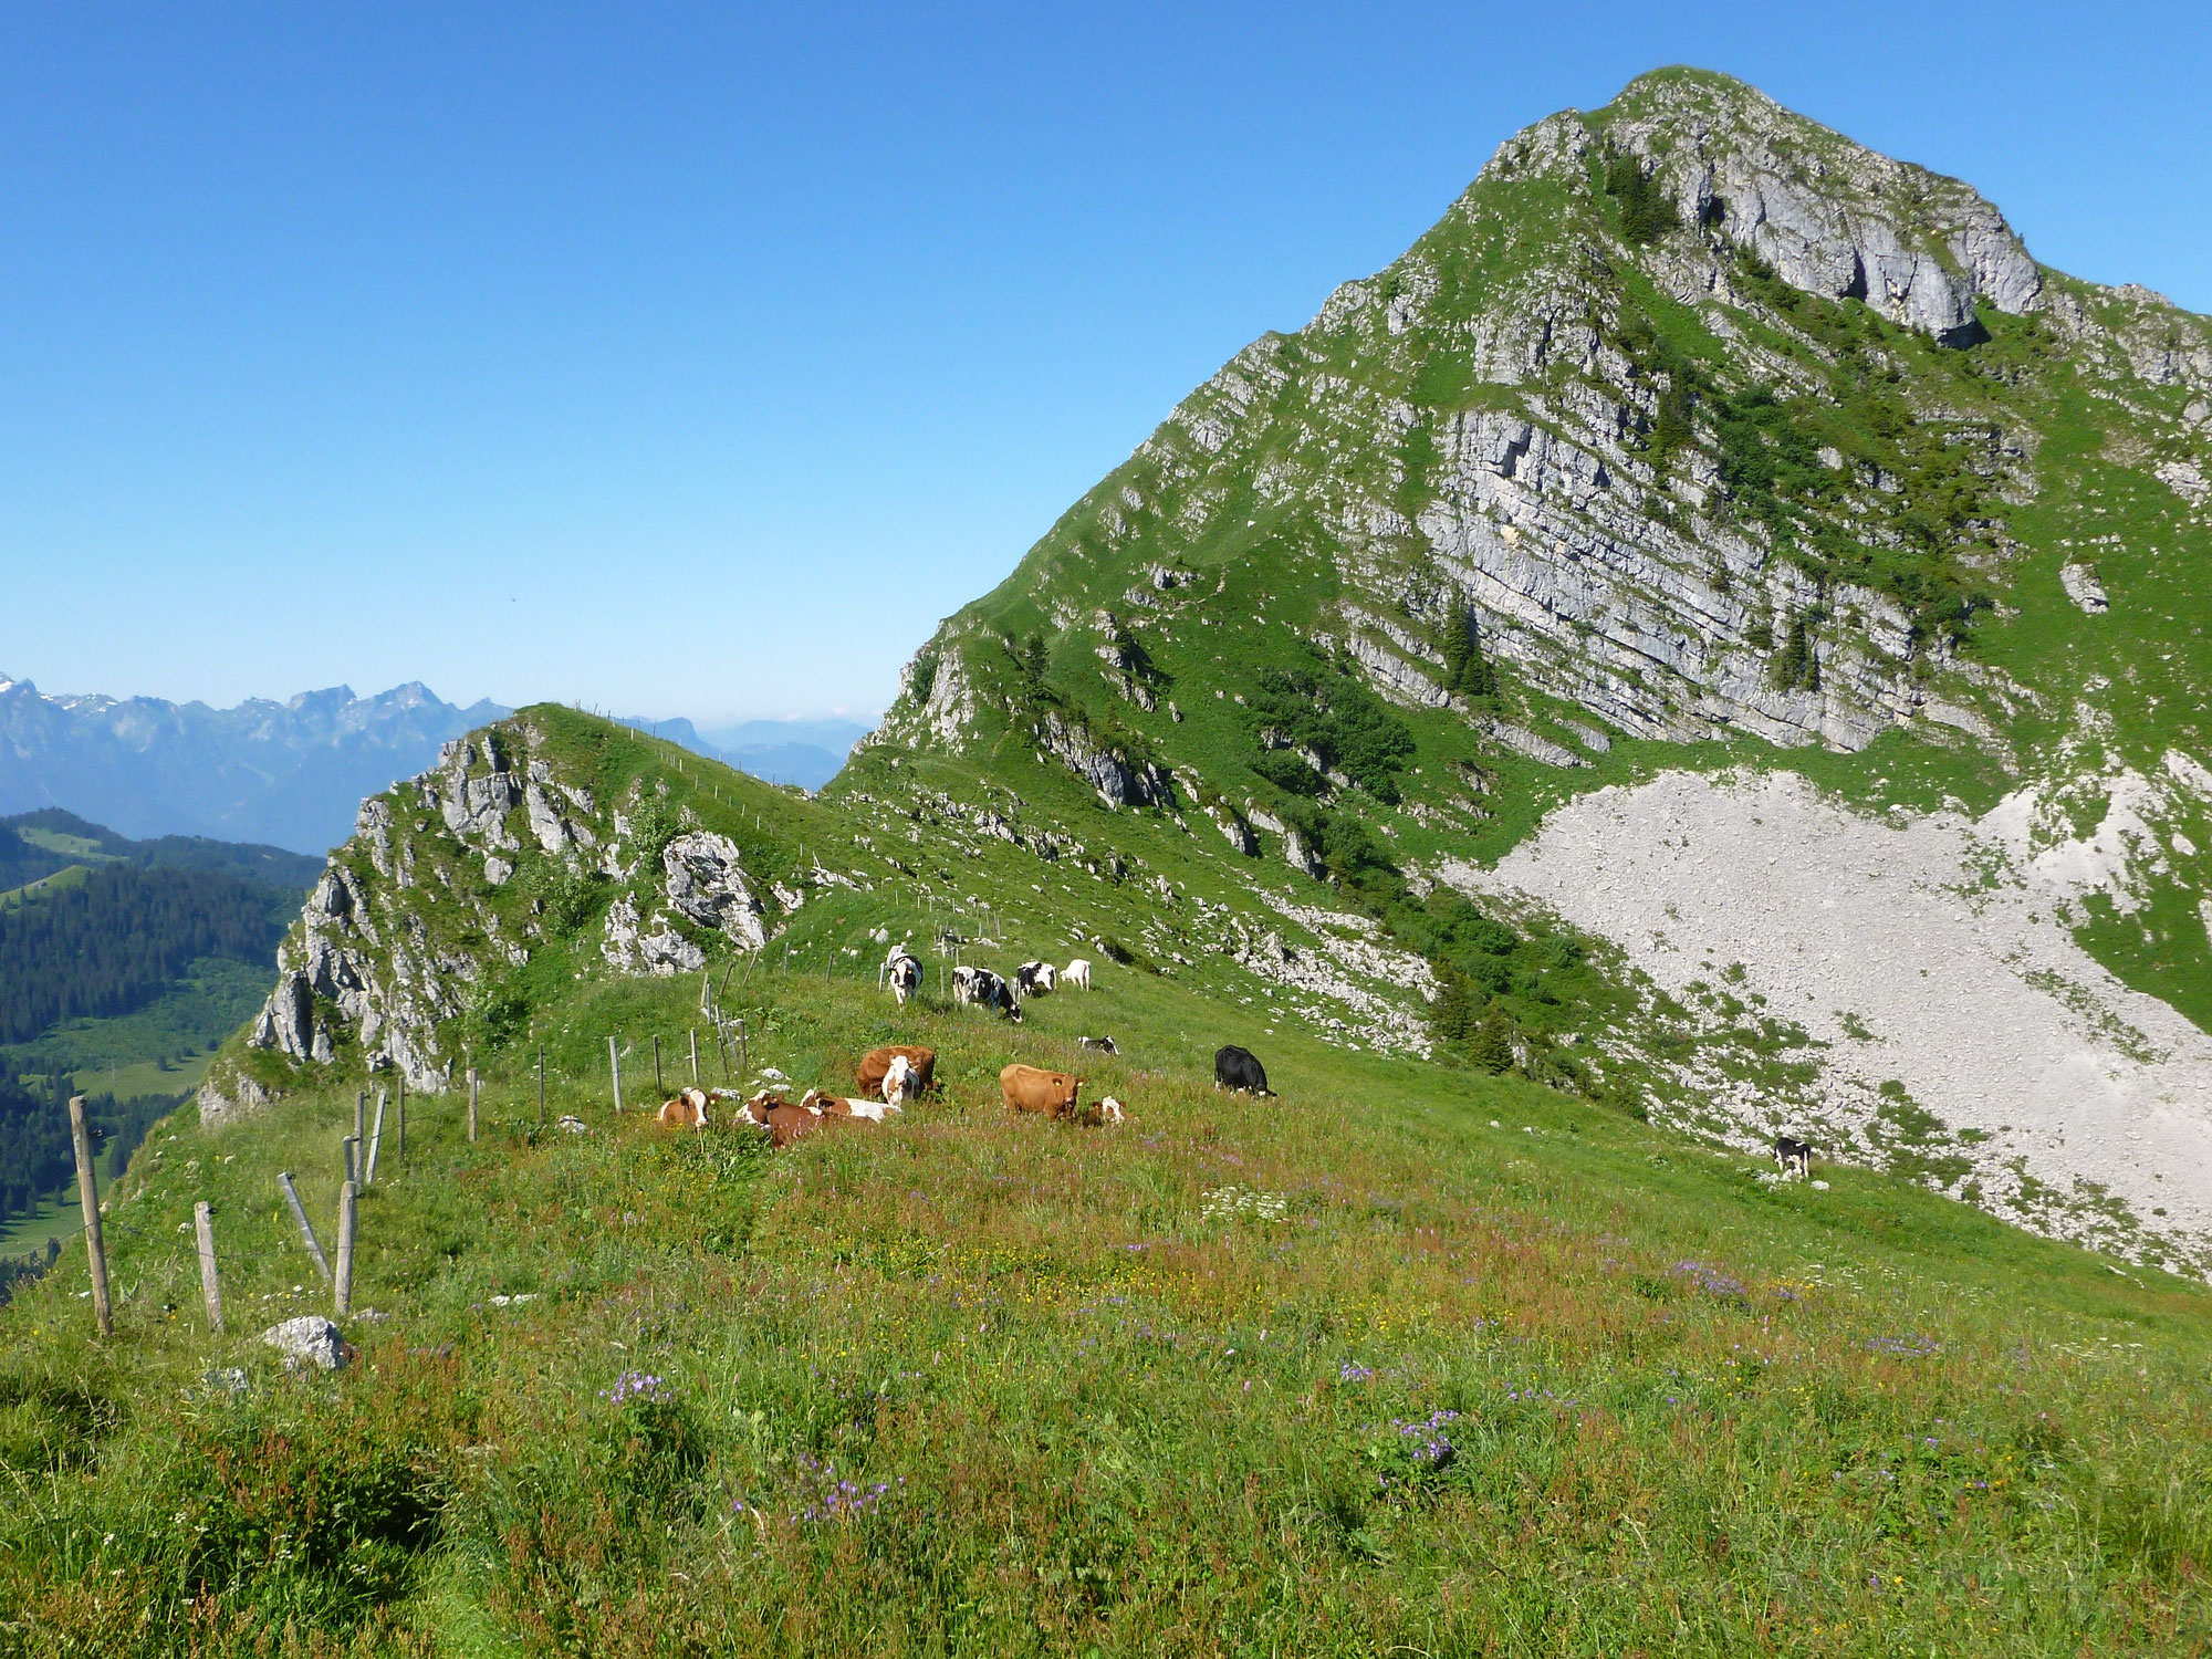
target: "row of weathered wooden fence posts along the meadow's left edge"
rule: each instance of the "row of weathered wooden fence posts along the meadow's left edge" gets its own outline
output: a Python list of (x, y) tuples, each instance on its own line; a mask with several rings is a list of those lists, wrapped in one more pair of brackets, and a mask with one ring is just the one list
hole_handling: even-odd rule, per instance
[[(734, 967), (734, 964), (732, 964)], [(721, 989), (726, 991), (730, 975), (723, 973)], [(743, 1015), (728, 1015), (721, 1009), (721, 995), (714, 987), (712, 969), (699, 984), (699, 1011), (714, 1029), (714, 1042), (721, 1055), (723, 1082), (730, 1082), (730, 1051), (737, 1048), (737, 1075), (750, 1075), (752, 1071), (752, 1040)], [(690, 1026), (686, 1033), (690, 1048), (690, 1075), (692, 1086), (699, 1084), (699, 1026)], [(622, 1037), (611, 1035), (606, 1040), (606, 1066), (615, 1091), (615, 1115), (622, 1115)], [(482, 1077), (476, 1066), (469, 1066), (469, 1139), (476, 1141), (476, 1108), (482, 1095)], [(661, 1040), (653, 1037), (653, 1084), (657, 1091), (666, 1091), (661, 1079)], [(314, 1263), (316, 1274), (332, 1290), (332, 1305), (338, 1318), (354, 1312), (354, 1243), (361, 1230), (361, 1194), (376, 1186), (376, 1166), (383, 1155), (385, 1144), (385, 1121), (392, 1121), (394, 1144), (400, 1157), (407, 1157), (407, 1079), (398, 1079), (394, 1091), (376, 1091), (376, 1117), (369, 1117), (369, 1091), (354, 1091), (354, 1133), (341, 1137), (338, 1141), (338, 1170), (343, 1183), (338, 1188), (338, 1263), (332, 1267), (330, 1256), (323, 1252), (323, 1241), (314, 1230), (314, 1221), (307, 1219), (307, 1206), (299, 1197), (299, 1186), (292, 1181), (290, 1170), (279, 1170), (276, 1190), (283, 1192), (285, 1208), (292, 1210), (292, 1221), (299, 1228), (299, 1241), (307, 1250), (307, 1259)], [(538, 1124), (546, 1121), (546, 1051), (538, 1048)], [(106, 1243), (100, 1232), (100, 1172), (93, 1166), (93, 1128), (84, 1113), (84, 1095), (71, 1095), (69, 1099), (69, 1137), (77, 1161), (77, 1197), (84, 1203), (84, 1250), (91, 1259), (93, 1272), (93, 1323), (102, 1336), (115, 1334), (115, 1310), (108, 1298), (108, 1254)], [(215, 1259), (215, 1210), (201, 1199), (192, 1206), (192, 1230), (199, 1248), (199, 1292), (208, 1307), (208, 1329), (215, 1336), (223, 1334), (223, 1287), (221, 1272)]]

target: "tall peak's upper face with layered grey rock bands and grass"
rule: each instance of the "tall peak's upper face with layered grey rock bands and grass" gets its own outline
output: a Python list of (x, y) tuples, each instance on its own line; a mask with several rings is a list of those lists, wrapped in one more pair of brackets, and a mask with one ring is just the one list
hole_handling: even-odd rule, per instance
[[(1513, 684), (1632, 737), (1982, 734), (2015, 688), (1958, 641), (2039, 489), (2035, 367), (2190, 387), (2194, 414), (2148, 411), (2146, 471), (2212, 465), (2212, 334), (2152, 310), (2048, 276), (1955, 179), (1650, 75), (1509, 139), (1405, 259), (1245, 347), (1015, 588), (1113, 655), (1099, 602), (1172, 613), (1175, 584), (1265, 562), (1334, 591), (1283, 619), (1407, 706), (1453, 706), (1438, 641), (1473, 626)], [(931, 644), (896, 741), (958, 745), (993, 690), (1022, 719), (1004, 604)]]

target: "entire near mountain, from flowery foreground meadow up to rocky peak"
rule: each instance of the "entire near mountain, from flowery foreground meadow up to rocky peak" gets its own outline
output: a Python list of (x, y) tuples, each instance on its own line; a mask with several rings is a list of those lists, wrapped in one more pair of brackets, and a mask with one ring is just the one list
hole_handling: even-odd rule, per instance
[(0, 1646), (2205, 1652), (2208, 507), (2212, 319), (1531, 126), (818, 794), (369, 796), (0, 1310)]

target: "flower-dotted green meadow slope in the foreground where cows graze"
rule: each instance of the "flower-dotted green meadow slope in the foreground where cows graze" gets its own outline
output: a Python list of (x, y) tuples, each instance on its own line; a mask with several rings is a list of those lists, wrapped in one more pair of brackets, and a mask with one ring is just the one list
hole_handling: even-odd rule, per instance
[[(670, 1086), (692, 1031), (723, 1075), (699, 980), (602, 971), (573, 916), (473, 1051), (478, 1139), (453, 1093), (409, 1097), (405, 1152), (387, 1124), (336, 1376), (257, 1343), (330, 1305), (276, 1172), (327, 1243), (374, 1079), (334, 1062), (226, 1128), (170, 1119), (108, 1194), (115, 1338), (91, 1336), (80, 1254), (0, 1310), (11, 1646), (2199, 1644), (2201, 1287), (1891, 1177), (1774, 1188), (1588, 1099), (1325, 1042), (1239, 1002), (1228, 964), (1088, 951), (1091, 995), (1006, 1026), (949, 1009), (931, 953), (894, 1009), (876, 933), (1066, 960), (1203, 894), (1161, 898), (1135, 849), (1117, 880), (1104, 847), (1031, 883), (1000, 836), (969, 856), (896, 836), (920, 825), (889, 803), (836, 814), (524, 719), (626, 774), (666, 765), (701, 816), (759, 812), (748, 856), (854, 869), (761, 958), (712, 962), (745, 1031), (730, 1066), (841, 1086), (863, 1048), (927, 1042), (945, 1097), (776, 1155), (661, 1133), (637, 1110), (655, 1037)], [(1075, 1046), (1099, 1033), (1119, 1057)], [(1212, 1091), (1219, 1042), (1281, 1097)], [(1130, 1121), (1011, 1119), (1009, 1060), (1084, 1073)]]

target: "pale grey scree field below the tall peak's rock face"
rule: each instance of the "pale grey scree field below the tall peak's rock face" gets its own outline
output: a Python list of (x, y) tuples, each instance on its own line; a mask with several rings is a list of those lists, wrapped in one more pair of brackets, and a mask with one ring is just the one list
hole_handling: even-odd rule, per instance
[(1677, 995), (1741, 962), (1736, 995), (1829, 1044), (1809, 1099), (1723, 1102), (1747, 1130), (1856, 1130), (1896, 1079), (1989, 1135), (1944, 1148), (1986, 1208), (2128, 1254), (2159, 1237), (2208, 1272), (2212, 1037), (2075, 945), (2004, 843), (1958, 814), (1858, 816), (1794, 774), (1670, 772), (1557, 810), (1493, 872), (1440, 874), (1551, 907)]

